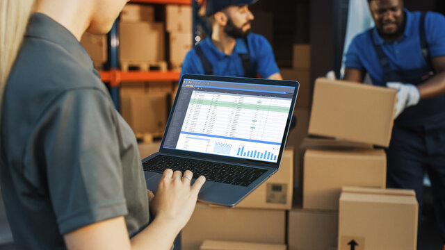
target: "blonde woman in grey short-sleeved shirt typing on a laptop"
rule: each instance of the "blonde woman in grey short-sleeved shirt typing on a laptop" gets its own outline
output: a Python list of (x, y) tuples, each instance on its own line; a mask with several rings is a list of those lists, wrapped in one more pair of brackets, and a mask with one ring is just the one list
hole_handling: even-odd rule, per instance
[(168, 169), (147, 192), (135, 137), (79, 43), (126, 2), (0, 0), (0, 183), (17, 249), (170, 249), (193, 213), (204, 176), (191, 186)]

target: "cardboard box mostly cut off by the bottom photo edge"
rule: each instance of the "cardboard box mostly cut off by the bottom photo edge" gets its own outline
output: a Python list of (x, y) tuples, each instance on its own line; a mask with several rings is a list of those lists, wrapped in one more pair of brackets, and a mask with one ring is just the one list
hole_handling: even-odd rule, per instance
[(286, 250), (286, 245), (204, 240), (200, 250)]

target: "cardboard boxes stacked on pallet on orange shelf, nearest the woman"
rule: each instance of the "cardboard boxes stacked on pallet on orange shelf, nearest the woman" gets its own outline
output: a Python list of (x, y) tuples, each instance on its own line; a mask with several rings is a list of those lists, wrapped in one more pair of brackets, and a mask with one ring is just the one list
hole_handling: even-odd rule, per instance
[(123, 71), (130, 66), (140, 70), (166, 69), (165, 31), (162, 22), (154, 22), (154, 7), (127, 4), (119, 23), (119, 58)]

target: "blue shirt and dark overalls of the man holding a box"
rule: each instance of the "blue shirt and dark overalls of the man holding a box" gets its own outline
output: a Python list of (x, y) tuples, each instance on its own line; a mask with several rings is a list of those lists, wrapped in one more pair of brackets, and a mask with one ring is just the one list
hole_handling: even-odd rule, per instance
[[(391, 81), (419, 85), (434, 76), (430, 58), (445, 56), (445, 17), (404, 12), (405, 32), (400, 39), (385, 41), (377, 28), (357, 35), (346, 54), (346, 67), (368, 72), (373, 85), (379, 86)], [(419, 205), (426, 172), (445, 242), (445, 94), (406, 108), (394, 121), (387, 149), (387, 187), (415, 190)]]

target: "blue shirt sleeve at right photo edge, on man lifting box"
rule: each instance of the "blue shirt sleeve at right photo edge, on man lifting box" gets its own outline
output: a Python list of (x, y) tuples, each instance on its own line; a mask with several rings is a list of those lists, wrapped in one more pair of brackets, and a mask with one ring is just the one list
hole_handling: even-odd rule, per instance
[(445, 56), (445, 17), (437, 12), (428, 12), (425, 20), (426, 39), (431, 57)]

